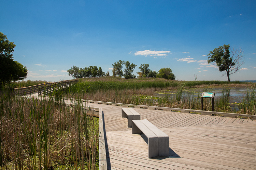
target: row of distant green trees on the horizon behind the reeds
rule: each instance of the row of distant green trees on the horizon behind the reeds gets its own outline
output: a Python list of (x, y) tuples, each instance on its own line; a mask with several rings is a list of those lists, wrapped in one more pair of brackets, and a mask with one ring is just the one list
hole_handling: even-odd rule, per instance
[[(124, 77), (125, 79), (134, 79), (136, 75), (133, 75), (133, 71), (137, 65), (130, 63), (129, 61), (119, 60), (113, 65), (113, 76), (115, 77)], [(149, 64), (141, 64), (139, 66), (140, 71), (138, 73), (138, 78), (165, 78), (169, 80), (175, 80), (175, 75), (172, 73), (170, 68), (161, 68), (158, 72), (152, 71), (149, 68)], [(74, 79), (76, 78), (88, 78), (88, 77), (103, 77), (110, 76), (110, 73), (102, 71), (101, 67), (99, 69), (97, 66), (89, 66), (85, 68), (79, 68), (73, 66), (71, 69), (68, 69), (68, 74), (71, 75)]]

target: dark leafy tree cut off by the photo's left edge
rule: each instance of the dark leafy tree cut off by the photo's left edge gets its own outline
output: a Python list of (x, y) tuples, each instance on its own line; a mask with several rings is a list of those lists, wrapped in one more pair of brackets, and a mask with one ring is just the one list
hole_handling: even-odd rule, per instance
[(15, 47), (14, 43), (0, 32), (0, 84), (24, 80), (27, 76), (27, 68), (13, 60), (12, 52)]

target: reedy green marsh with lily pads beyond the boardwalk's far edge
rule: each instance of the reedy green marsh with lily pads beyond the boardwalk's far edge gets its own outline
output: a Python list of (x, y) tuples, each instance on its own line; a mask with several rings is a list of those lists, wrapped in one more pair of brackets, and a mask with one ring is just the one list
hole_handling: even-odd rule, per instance
[[(84, 78), (67, 89), (64, 95), (71, 95), (73, 98), (86, 97), (89, 100), (105, 102), (201, 110), (201, 93), (197, 89), (203, 89), (204, 92), (213, 92), (212, 87), (220, 87), (223, 90), (221, 91), (221, 97), (214, 100), (215, 111), (255, 114), (255, 109), (253, 109), (253, 106), (255, 107), (255, 103), (253, 103), (255, 101), (253, 100), (255, 91), (252, 90), (248, 91), (247, 100), (243, 102), (243, 109), (241, 107), (230, 107), (229, 87), (232, 86), (253, 87), (255, 84), (239, 81), (175, 81), (159, 78), (127, 80), (120, 77)], [(173, 93), (173, 91), (175, 96), (170, 97), (168, 94)], [(156, 93), (158, 96), (155, 95)], [(161, 96), (159, 96), (160, 94)], [(251, 110), (247, 109), (248, 101), (252, 105)], [(205, 110), (212, 111), (211, 100), (205, 99), (204, 106)]]

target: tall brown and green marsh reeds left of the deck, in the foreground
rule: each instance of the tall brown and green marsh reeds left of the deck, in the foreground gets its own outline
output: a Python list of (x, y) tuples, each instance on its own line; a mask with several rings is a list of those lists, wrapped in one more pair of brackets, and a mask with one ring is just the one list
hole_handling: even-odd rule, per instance
[(98, 167), (98, 118), (81, 100), (66, 106), (58, 98), (15, 97), (1, 88), (1, 169)]

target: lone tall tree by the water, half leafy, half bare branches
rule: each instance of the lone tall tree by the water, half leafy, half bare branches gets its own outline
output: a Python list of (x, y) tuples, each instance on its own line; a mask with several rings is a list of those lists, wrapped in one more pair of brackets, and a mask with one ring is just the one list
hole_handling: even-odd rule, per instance
[(227, 74), (228, 81), (230, 82), (230, 74), (236, 73), (239, 68), (244, 64), (243, 51), (240, 48), (234, 49), (231, 51), (232, 56), (230, 56), (229, 51), (230, 45), (219, 46), (218, 48), (213, 49), (208, 54), (208, 63), (215, 62), (219, 71), (226, 71), (222, 74), (224, 76)]

